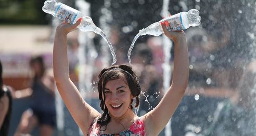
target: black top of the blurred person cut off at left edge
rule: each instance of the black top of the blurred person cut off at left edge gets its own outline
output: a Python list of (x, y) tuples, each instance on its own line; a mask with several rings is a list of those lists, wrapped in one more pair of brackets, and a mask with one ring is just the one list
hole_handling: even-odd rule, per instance
[(3, 97), (3, 95), (6, 94), (9, 98), (9, 108), (6, 113), (5, 119), (3, 121), (2, 127), (0, 127), (0, 136), (8, 136), (9, 132), (9, 125), (11, 120), (11, 114), (12, 114), (12, 95), (8, 88), (4, 87), (3, 89), (0, 88), (0, 98)]

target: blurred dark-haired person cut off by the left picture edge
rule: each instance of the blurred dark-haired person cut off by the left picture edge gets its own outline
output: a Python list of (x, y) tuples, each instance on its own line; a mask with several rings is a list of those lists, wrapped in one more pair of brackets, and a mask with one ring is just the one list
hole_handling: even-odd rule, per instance
[(12, 113), (12, 95), (9, 87), (3, 85), (3, 67), (0, 61), (0, 136), (8, 136)]

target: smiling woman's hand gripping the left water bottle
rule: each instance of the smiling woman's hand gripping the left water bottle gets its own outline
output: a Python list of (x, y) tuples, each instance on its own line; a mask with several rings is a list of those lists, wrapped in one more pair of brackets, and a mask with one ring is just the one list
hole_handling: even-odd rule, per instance
[(77, 29), (77, 27), (80, 25), (82, 21), (82, 18), (79, 18), (79, 20), (76, 21), (73, 25), (67, 22), (62, 22), (56, 29), (56, 31), (63, 32), (64, 34), (68, 34), (71, 31), (74, 31)]

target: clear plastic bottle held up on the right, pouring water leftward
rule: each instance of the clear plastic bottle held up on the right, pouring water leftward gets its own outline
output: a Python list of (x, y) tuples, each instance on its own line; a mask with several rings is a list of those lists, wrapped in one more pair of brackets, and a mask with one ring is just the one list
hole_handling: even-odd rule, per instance
[(187, 12), (180, 12), (170, 17), (166, 17), (156, 23), (153, 23), (150, 26), (141, 29), (139, 34), (149, 34), (154, 36), (159, 36), (160, 34), (163, 34), (163, 28), (160, 24), (161, 22), (166, 25), (166, 28), (169, 31), (176, 31), (185, 30), (190, 26), (199, 26), (201, 23), (200, 21), (201, 17), (199, 16), (199, 11), (197, 9), (191, 9)]

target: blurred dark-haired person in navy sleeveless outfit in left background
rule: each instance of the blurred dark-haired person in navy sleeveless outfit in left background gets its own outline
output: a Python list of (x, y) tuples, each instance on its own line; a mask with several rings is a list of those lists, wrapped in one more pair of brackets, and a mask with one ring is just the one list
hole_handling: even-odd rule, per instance
[(15, 92), (15, 98), (30, 96), (29, 109), (24, 111), (15, 136), (30, 133), (39, 126), (39, 136), (52, 136), (56, 125), (55, 82), (52, 71), (47, 71), (42, 56), (32, 57), (33, 78), (29, 88)]

